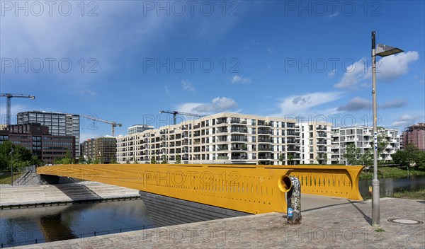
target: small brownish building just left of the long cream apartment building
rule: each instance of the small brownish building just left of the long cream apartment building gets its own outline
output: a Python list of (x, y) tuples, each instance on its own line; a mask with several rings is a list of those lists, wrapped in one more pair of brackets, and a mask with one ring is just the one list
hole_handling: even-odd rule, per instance
[(117, 139), (115, 137), (97, 137), (88, 139), (82, 144), (84, 158), (92, 161), (97, 159), (99, 163), (111, 163), (116, 161)]

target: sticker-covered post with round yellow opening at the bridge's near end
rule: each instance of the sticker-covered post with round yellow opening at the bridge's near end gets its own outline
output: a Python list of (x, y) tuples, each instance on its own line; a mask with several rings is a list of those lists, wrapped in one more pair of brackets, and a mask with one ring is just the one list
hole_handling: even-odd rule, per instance
[(301, 224), (301, 185), (294, 176), (283, 175), (280, 178), (280, 190), (286, 192), (288, 205), (288, 224)]

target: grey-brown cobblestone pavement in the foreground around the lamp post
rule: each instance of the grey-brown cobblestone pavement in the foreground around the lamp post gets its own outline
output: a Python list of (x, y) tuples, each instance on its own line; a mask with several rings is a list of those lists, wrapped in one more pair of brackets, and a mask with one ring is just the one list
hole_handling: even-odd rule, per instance
[(370, 226), (371, 202), (351, 202), (302, 213), (290, 226), (281, 213), (204, 221), (20, 248), (425, 248), (425, 201), (382, 198), (380, 223)]

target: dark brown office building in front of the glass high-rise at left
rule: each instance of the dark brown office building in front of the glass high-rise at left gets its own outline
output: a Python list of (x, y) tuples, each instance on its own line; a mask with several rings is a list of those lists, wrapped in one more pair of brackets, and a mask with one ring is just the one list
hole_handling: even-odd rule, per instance
[(49, 127), (40, 124), (9, 125), (0, 130), (0, 144), (11, 141), (33, 151), (43, 163), (54, 163), (55, 158), (63, 158), (69, 152), (75, 158), (75, 137), (57, 136), (49, 132)]

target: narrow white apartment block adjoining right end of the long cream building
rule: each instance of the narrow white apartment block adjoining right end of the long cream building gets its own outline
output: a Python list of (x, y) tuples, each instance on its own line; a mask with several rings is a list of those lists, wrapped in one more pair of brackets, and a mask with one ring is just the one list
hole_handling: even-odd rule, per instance
[(303, 122), (301, 129), (301, 164), (331, 164), (331, 123)]

